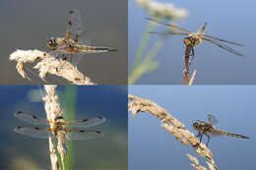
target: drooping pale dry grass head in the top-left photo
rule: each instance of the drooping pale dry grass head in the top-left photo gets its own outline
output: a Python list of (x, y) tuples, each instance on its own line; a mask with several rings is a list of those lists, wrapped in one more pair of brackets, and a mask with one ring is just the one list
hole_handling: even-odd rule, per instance
[(39, 71), (40, 79), (52, 74), (62, 77), (75, 85), (95, 85), (90, 78), (85, 77), (77, 67), (50, 54), (39, 50), (16, 50), (10, 55), (11, 61), (16, 61), (16, 69), (24, 79), (30, 79), (24, 70), (25, 63), (38, 62), (33, 68)]

